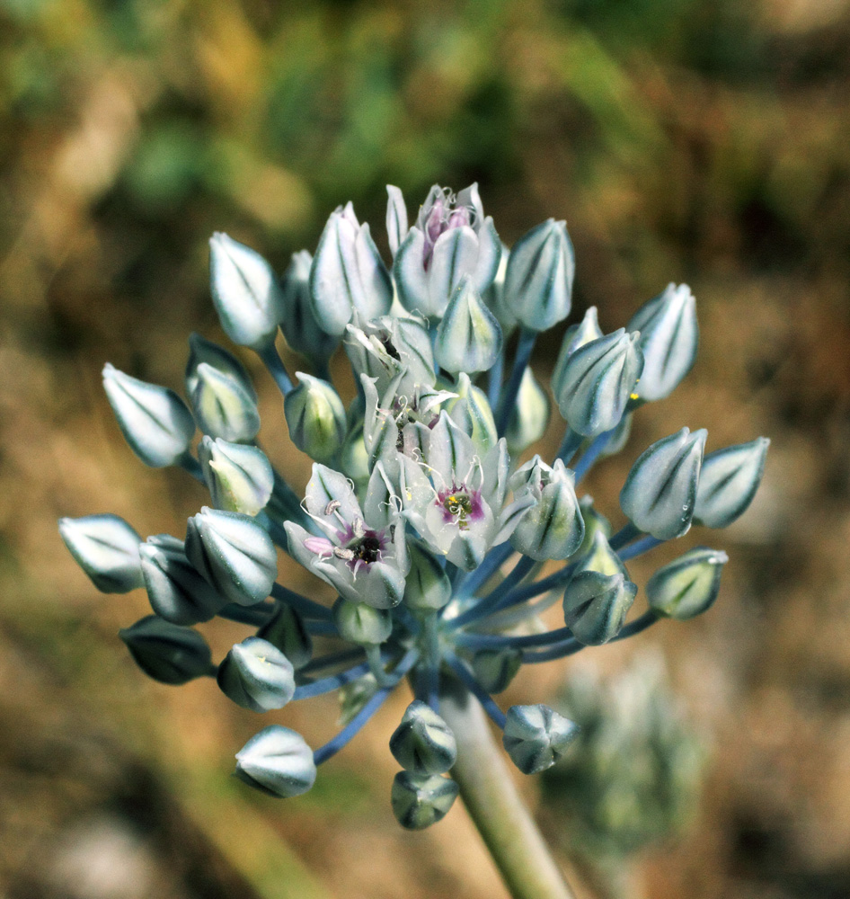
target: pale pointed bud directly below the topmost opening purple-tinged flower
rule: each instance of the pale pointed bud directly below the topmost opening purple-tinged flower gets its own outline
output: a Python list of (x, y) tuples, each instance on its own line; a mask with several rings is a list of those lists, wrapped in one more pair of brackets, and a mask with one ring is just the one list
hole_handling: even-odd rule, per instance
[(438, 364), (453, 374), (485, 371), (496, 361), (501, 343), (499, 322), (484, 306), (473, 280), (465, 275), (437, 328), (434, 356)]

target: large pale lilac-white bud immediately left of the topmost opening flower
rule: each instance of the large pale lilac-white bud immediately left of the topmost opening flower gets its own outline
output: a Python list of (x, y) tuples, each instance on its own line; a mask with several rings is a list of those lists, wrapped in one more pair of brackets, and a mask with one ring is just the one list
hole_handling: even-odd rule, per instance
[(367, 224), (349, 203), (332, 213), (310, 270), (313, 313), (327, 334), (341, 337), (355, 311), (366, 321), (385, 316), (393, 299), (389, 272)]

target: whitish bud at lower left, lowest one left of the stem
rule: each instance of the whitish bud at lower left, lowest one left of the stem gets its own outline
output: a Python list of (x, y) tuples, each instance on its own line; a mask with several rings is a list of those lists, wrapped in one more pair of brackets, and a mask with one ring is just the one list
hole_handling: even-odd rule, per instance
[(313, 752), (301, 734), (271, 725), (236, 753), (237, 778), (269, 796), (300, 796), (315, 782)]

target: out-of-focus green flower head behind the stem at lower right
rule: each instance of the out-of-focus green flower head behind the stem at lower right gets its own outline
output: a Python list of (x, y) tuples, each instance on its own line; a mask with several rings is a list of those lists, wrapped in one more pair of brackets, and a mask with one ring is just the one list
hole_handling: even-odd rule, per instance
[(543, 796), (572, 851), (622, 869), (625, 857), (693, 817), (704, 747), (658, 655), (638, 654), (606, 681), (573, 676), (555, 704), (580, 733), (561, 764), (546, 771)]

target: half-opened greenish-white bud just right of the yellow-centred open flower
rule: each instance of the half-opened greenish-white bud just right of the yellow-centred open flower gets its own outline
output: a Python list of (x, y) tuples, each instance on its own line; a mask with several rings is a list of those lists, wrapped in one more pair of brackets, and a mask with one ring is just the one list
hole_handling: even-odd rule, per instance
[(511, 546), (536, 559), (566, 559), (581, 546), (584, 521), (575, 491), (575, 475), (561, 459), (550, 468), (539, 456), (518, 468), (510, 479), (519, 498), (530, 494), (534, 504), (510, 536)]

